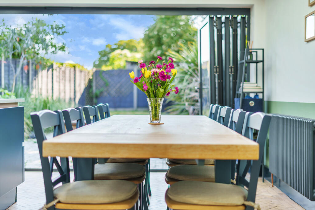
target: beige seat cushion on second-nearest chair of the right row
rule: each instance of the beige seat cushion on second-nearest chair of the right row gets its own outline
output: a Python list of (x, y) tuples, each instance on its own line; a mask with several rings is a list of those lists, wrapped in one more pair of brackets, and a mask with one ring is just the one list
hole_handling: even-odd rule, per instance
[(214, 166), (178, 165), (169, 168), (166, 175), (176, 180), (215, 181)]

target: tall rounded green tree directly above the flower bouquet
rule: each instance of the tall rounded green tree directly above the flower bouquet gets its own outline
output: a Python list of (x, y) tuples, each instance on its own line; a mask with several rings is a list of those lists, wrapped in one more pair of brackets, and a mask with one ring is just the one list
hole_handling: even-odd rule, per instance
[(197, 29), (192, 26), (190, 16), (156, 16), (155, 23), (145, 32), (144, 60), (150, 62), (157, 56), (166, 59), (168, 50), (180, 51), (180, 43), (196, 42)]

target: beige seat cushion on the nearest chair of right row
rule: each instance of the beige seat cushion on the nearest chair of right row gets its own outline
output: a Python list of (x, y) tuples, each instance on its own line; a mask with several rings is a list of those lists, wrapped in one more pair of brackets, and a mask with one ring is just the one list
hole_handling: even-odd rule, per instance
[(247, 190), (238, 185), (215, 182), (179, 181), (167, 195), (174, 201), (199, 205), (239, 206), (247, 199)]

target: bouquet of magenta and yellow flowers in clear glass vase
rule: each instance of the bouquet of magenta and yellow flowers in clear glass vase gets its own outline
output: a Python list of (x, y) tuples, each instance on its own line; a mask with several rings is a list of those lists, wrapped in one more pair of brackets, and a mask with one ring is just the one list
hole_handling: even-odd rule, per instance
[(129, 75), (133, 81), (130, 81), (148, 97), (150, 124), (161, 124), (163, 97), (169, 96), (171, 92), (179, 92), (178, 87), (171, 84), (177, 74), (173, 59), (169, 58), (165, 63), (162, 57), (157, 56), (157, 61), (150, 61), (148, 66), (142, 60), (137, 65), (141, 69), (141, 75), (135, 77), (135, 72), (132, 71)]

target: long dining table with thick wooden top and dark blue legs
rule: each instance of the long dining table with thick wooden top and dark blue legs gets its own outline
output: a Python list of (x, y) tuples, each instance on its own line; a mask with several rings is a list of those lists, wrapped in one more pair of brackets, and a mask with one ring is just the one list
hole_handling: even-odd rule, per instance
[[(231, 160), (258, 160), (259, 146), (206, 116), (113, 115), (43, 142), (44, 157), (77, 158), (77, 179), (94, 178), (95, 158), (215, 159), (215, 181), (231, 183)], [(105, 159), (106, 160), (106, 159)]]

